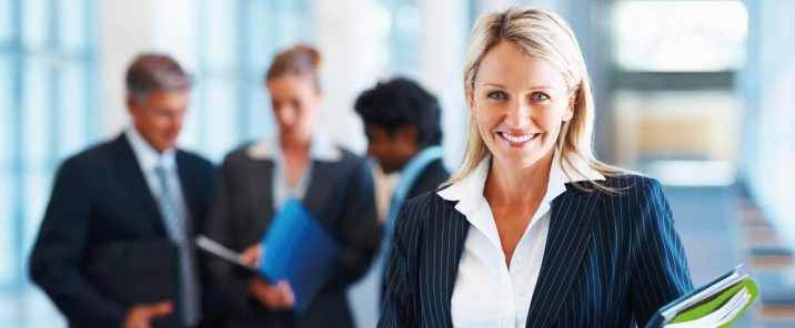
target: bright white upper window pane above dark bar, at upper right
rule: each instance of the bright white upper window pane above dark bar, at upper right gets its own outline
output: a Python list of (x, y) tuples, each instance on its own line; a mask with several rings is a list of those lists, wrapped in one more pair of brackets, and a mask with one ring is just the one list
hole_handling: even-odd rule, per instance
[(748, 14), (741, 1), (623, 1), (615, 9), (622, 70), (721, 72), (745, 61)]

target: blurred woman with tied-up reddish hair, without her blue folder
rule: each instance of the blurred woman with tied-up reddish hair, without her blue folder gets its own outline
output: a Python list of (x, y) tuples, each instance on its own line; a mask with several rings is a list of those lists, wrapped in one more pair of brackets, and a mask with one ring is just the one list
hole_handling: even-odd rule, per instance
[(319, 129), (320, 53), (295, 45), (273, 59), (264, 76), (278, 132), (224, 160), (208, 222), (209, 237), (255, 265), (259, 242), (288, 198), (299, 199), (336, 237), (342, 255), (303, 314), (286, 280), (218, 260), (214, 276), (235, 309), (228, 327), (352, 327), (349, 285), (370, 266), (381, 238), (368, 162), (335, 145)]

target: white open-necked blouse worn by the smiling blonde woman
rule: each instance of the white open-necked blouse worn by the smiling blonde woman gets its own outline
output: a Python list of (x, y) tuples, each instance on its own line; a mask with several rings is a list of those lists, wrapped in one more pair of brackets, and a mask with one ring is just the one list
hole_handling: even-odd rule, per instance
[[(573, 162), (591, 180), (604, 180), (584, 161)], [(565, 162), (564, 165), (571, 168)], [(491, 156), (486, 156), (470, 175), (439, 192), (444, 199), (457, 201), (455, 209), (471, 224), (453, 288), (454, 327), (525, 326), (546, 247), (552, 201), (566, 191), (565, 183), (568, 183), (555, 153), (546, 195), (516, 245), (509, 270), (494, 215), (483, 197), (490, 166)], [(574, 181), (586, 180), (574, 170), (566, 172)]]

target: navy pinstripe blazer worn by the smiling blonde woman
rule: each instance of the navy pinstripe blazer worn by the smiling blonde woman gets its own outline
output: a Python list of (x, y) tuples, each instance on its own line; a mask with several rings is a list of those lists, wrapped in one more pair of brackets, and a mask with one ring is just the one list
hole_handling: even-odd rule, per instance
[[(693, 289), (661, 184), (624, 175), (605, 185), (622, 192), (566, 184), (553, 201), (526, 327), (643, 326)], [(379, 327), (452, 327), (451, 297), (470, 227), (455, 204), (433, 192), (404, 203)]]

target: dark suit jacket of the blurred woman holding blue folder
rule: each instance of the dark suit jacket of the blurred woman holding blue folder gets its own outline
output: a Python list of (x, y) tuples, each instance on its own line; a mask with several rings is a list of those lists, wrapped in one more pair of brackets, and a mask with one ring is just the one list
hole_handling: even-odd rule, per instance
[[(242, 252), (259, 243), (272, 223), (274, 164), (243, 146), (224, 161), (208, 222), (212, 239)], [(302, 204), (342, 246), (339, 265), (304, 314), (269, 311), (249, 295), (252, 274), (214, 262), (212, 274), (237, 308), (228, 327), (352, 327), (346, 287), (370, 266), (381, 238), (372, 174), (366, 161), (344, 150), (336, 162), (312, 160)]]

